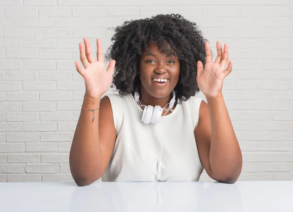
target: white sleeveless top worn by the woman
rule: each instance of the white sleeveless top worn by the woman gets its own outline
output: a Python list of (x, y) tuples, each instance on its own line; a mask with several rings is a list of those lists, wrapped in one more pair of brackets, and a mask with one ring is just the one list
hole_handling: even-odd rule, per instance
[(161, 172), (158, 173), (161, 142), (155, 133), (156, 125), (141, 121), (143, 109), (137, 105), (132, 94), (107, 96), (117, 134), (102, 181), (149, 182), (157, 181), (157, 177), (158, 181), (199, 180), (204, 168), (199, 159), (194, 128), (198, 123), (201, 98), (178, 100), (173, 112), (161, 117), (157, 134), (163, 151)]

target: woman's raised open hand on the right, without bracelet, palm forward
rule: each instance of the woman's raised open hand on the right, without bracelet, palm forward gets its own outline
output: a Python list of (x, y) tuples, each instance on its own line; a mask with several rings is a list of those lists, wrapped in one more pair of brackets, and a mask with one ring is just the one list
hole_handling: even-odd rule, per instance
[(205, 43), (207, 59), (205, 69), (201, 61), (197, 62), (197, 85), (200, 91), (207, 98), (216, 98), (222, 95), (223, 80), (232, 71), (232, 61), (229, 62), (228, 67), (225, 69), (228, 61), (228, 44), (224, 45), (224, 53), (220, 42), (217, 42), (217, 57), (212, 62), (212, 55), (209, 47), (209, 42)]

